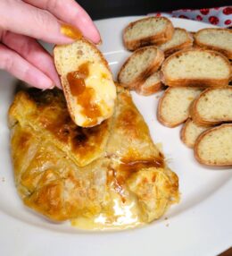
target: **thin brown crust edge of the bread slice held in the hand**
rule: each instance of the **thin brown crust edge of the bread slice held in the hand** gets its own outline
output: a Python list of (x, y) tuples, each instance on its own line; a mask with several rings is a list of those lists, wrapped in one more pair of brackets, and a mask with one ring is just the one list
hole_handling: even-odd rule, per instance
[[(87, 38), (79, 38), (79, 41), (81, 41), (83, 44), (87, 44), (88, 46), (90, 46), (92, 48), (92, 50), (95, 52), (95, 54), (100, 56), (101, 62), (104, 64), (104, 66), (109, 70), (110, 73), (112, 73), (111, 70), (110, 70), (109, 64), (104, 59), (104, 55), (101, 53), (101, 51), (97, 47), (95, 47), (95, 45), (92, 42), (87, 40)], [(75, 42), (73, 44), (75, 44)], [(58, 75), (60, 76), (60, 79), (61, 79), (62, 89), (63, 89), (64, 96), (65, 96), (66, 101), (67, 101), (67, 106), (68, 106), (68, 109), (69, 109), (70, 117), (71, 117), (72, 121), (75, 124), (77, 124), (77, 120), (76, 120), (75, 115), (74, 115), (74, 107), (71, 104), (71, 97), (72, 96), (70, 95), (70, 85), (66, 80), (63, 79), (63, 76), (66, 76), (66, 74), (62, 73), (62, 64), (60, 64), (59, 59), (55, 57), (55, 55), (58, 55), (59, 50), (62, 47), (69, 47), (69, 46), (70, 45), (60, 45), (60, 46), (55, 46), (54, 47), (54, 64), (55, 64), (55, 68), (57, 70), (57, 73), (58, 73)]]

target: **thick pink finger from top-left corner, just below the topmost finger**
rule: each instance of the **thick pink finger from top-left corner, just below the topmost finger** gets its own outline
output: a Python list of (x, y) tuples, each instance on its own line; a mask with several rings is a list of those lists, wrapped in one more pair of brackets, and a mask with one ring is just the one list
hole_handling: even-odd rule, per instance
[(61, 32), (61, 24), (52, 13), (22, 1), (0, 1), (0, 28), (42, 39), (48, 43), (66, 44), (73, 39)]

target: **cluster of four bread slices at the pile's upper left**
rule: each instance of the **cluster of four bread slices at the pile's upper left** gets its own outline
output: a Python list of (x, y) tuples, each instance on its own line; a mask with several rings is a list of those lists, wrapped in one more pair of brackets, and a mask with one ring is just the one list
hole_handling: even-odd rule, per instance
[[(162, 89), (160, 68), (164, 55), (193, 46), (192, 35), (184, 29), (174, 29), (165, 17), (148, 17), (128, 24), (123, 31), (124, 46), (135, 51), (120, 68), (118, 81), (129, 90), (148, 96)], [(149, 64), (148, 48), (157, 47), (153, 69)], [(145, 57), (145, 55), (147, 57)]]

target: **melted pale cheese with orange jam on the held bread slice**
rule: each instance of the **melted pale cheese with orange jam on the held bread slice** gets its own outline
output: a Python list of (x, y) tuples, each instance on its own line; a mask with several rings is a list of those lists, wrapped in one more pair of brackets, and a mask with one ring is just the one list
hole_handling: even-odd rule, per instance
[[(91, 127), (101, 124), (112, 116), (116, 88), (112, 73), (104, 64), (89, 62), (88, 75), (84, 78), (86, 90), (76, 97), (76, 120), (79, 126)], [(91, 94), (91, 95), (90, 95)]]

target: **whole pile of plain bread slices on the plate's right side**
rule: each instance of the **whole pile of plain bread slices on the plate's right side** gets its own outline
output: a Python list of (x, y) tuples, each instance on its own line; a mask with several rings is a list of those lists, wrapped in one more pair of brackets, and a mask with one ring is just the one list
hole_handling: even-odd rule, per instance
[(167, 18), (148, 17), (128, 24), (123, 42), (136, 51), (122, 65), (118, 80), (141, 95), (168, 86), (158, 120), (168, 127), (184, 124), (181, 140), (200, 163), (232, 166), (232, 31), (188, 32)]

